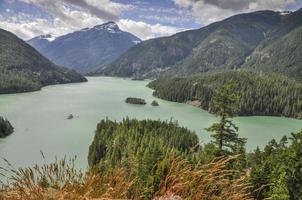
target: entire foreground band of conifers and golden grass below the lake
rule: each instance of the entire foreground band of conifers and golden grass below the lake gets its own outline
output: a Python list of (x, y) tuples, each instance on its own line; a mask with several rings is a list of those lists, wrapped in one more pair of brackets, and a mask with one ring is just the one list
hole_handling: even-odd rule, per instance
[(8, 164), (0, 172), (12, 184), (3, 184), (2, 198), (298, 200), (302, 131), (286, 141), (242, 155), (229, 149), (221, 157), (218, 145), (199, 146), (197, 136), (176, 123), (104, 120), (89, 149), (87, 172), (76, 170), (73, 159), (18, 170)]

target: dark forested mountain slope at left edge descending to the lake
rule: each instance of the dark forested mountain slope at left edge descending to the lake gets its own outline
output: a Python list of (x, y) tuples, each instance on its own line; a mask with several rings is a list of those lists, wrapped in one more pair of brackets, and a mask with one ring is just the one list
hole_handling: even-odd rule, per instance
[(0, 29), (0, 94), (83, 81), (82, 75), (53, 64), (14, 34)]

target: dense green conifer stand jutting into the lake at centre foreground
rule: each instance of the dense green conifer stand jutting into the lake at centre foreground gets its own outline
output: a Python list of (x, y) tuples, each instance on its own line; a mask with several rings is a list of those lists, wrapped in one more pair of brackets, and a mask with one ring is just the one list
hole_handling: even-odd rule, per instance
[(148, 199), (163, 179), (166, 159), (172, 152), (186, 154), (198, 146), (195, 133), (177, 124), (152, 120), (110, 120), (98, 124), (89, 148), (89, 164), (100, 169), (122, 166), (139, 177), (141, 192)]

